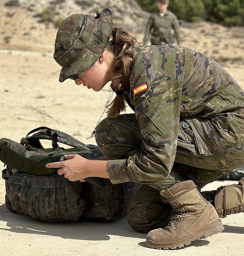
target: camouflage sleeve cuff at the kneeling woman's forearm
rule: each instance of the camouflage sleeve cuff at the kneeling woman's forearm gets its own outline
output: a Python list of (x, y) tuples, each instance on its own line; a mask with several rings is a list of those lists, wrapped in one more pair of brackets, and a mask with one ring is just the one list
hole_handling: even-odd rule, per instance
[(128, 177), (123, 173), (123, 159), (120, 160), (109, 160), (107, 162), (107, 169), (110, 181), (113, 184), (127, 182)]

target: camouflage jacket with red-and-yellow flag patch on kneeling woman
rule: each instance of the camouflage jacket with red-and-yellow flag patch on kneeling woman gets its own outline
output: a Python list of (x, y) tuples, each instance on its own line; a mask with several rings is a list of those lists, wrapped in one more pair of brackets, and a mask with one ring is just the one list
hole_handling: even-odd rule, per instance
[[(200, 52), (172, 45), (136, 46), (130, 85), (123, 97), (135, 110), (142, 145), (141, 152), (128, 159), (108, 161), (112, 183), (163, 182), (174, 161), (181, 162), (178, 155), (187, 156), (187, 151), (195, 157), (191, 161), (199, 163), (212, 149), (228, 155), (237, 148), (236, 157), (244, 161), (244, 92), (220, 65)], [(193, 143), (181, 143), (185, 120), (194, 133), (193, 150), (187, 148)], [(227, 134), (230, 139), (222, 146)]]

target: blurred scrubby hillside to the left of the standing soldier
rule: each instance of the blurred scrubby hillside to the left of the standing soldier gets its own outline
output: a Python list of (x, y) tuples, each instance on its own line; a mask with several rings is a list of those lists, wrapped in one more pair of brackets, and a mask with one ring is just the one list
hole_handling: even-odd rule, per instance
[(54, 21), (74, 13), (96, 15), (109, 8), (114, 26), (134, 34), (142, 32), (149, 15), (134, 0), (1, 0), (0, 48), (53, 51), (57, 28), (54, 23), (43, 21), (47, 7), (54, 10)]

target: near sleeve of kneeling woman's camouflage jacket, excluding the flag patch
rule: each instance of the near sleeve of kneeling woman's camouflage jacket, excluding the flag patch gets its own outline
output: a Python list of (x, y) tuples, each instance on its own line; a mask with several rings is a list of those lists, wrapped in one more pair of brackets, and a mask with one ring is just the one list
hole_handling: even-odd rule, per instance
[(158, 74), (146, 91), (133, 97), (142, 138), (141, 152), (128, 159), (108, 161), (112, 183), (152, 184), (168, 178), (176, 154), (181, 91), (181, 81)]

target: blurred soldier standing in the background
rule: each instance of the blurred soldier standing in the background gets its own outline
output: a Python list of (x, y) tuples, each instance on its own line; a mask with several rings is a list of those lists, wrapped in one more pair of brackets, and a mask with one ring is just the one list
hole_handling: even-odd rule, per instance
[[(180, 25), (175, 14), (168, 10), (169, 0), (158, 0), (159, 11), (152, 13), (147, 25), (143, 44), (147, 45), (151, 37), (152, 45), (181, 44)], [(174, 34), (172, 34), (172, 29)]]

